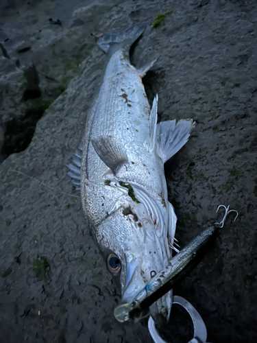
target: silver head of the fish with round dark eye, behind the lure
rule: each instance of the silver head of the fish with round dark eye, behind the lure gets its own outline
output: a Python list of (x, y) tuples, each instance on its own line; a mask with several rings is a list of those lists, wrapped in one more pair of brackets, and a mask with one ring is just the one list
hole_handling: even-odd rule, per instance
[[(143, 205), (135, 202), (128, 201), (106, 216), (97, 228), (97, 241), (121, 289), (123, 303), (131, 303), (171, 258), (169, 244)], [(156, 322), (169, 320), (171, 304), (170, 291), (151, 305), (150, 314)]]

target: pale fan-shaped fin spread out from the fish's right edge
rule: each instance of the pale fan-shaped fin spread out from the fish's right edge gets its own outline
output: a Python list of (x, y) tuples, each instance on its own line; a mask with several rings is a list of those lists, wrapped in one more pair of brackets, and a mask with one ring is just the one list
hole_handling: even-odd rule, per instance
[(195, 127), (193, 119), (162, 121), (157, 125), (156, 152), (163, 163), (175, 155), (188, 141), (191, 130)]

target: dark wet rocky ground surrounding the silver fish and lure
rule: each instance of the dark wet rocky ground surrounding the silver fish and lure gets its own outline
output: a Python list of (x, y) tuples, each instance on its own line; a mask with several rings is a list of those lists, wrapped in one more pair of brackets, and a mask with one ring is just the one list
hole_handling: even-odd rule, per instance
[[(90, 34), (147, 23), (131, 60), (140, 67), (159, 56), (144, 79), (149, 102), (158, 93), (160, 121), (196, 121), (180, 163), (167, 168), (180, 246), (217, 220), (219, 204), (239, 213), (174, 294), (204, 318), (208, 342), (256, 342), (256, 1), (0, 6), (0, 341), (151, 342), (146, 320), (112, 316), (119, 294), (65, 167), (105, 60)], [(180, 312), (162, 331), (167, 342), (192, 337)]]

